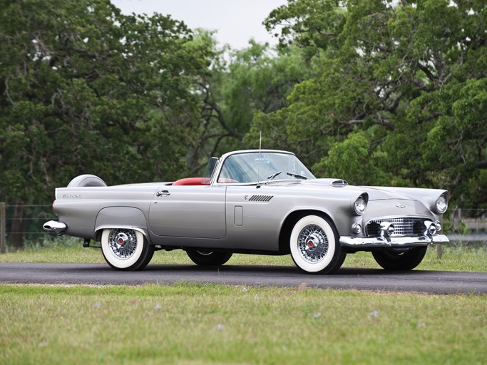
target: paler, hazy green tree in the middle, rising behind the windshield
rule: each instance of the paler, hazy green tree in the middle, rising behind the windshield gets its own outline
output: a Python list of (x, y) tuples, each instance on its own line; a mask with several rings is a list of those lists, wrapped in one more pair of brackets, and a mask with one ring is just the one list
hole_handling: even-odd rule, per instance
[(223, 48), (215, 53), (210, 74), (200, 83), (201, 120), (190, 159), (192, 173), (203, 168), (209, 155), (256, 147), (258, 138), (244, 140), (255, 113), (283, 108), (307, 72), (296, 48), (275, 54), (268, 44), (251, 40), (240, 51)]

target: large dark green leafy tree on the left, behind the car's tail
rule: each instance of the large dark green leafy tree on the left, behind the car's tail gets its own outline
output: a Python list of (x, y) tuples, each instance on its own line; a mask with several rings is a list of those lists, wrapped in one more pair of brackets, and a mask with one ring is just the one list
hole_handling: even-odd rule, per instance
[(49, 201), (81, 173), (110, 184), (181, 173), (211, 52), (185, 24), (108, 0), (0, 6), (1, 200)]

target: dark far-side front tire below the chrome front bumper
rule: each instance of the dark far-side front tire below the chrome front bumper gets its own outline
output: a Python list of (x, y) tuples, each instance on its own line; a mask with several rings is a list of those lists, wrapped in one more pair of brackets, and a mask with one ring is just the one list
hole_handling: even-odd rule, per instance
[(405, 252), (375, 251), (372, 256), (386, 270), (411, 270), (420, 264), (426, 250), (427, 246), (414, 247)]

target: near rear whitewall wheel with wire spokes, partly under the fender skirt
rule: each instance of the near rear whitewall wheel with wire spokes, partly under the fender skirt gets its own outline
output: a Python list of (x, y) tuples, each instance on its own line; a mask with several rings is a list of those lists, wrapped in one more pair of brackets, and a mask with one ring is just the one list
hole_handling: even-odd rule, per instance
[(106, 262), (117, 270), (141, 270), (154, 255), (154, 246), (149, 245), (142, 232), (125, 228), (103, 230), (101, 252)]

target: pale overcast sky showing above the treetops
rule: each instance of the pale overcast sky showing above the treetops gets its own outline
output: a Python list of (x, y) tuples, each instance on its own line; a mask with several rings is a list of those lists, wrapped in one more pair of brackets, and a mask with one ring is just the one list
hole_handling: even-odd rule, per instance
[(111, 0), (124, 14), (170, 14), (190, 29), (215, 30), (222, 46), (245, 48), (250, 38), (276, 44), (277, 38), (265, 30), (262, 21), (286, 0)]

